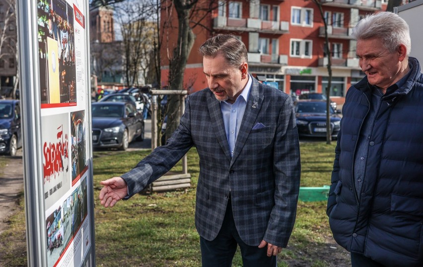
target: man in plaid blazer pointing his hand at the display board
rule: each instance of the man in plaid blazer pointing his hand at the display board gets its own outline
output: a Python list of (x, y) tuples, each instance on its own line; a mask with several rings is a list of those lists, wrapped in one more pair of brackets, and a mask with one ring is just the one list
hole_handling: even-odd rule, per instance
[(200, 156), (195, 224), (204, 267), (275, 266), (295, 221), (299, 142), (291, 97), (248, 74), (245, 45), (217, 35), (200, 48), (209, 88), (191, 94), (180, 125), (131, 171), (102, 181), (113, 207), (169, 171), (192, 147)]

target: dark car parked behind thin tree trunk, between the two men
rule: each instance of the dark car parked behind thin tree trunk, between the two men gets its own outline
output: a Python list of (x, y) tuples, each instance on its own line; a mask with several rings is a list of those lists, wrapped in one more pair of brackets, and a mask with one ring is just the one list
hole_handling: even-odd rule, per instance
[[(326, 136), (326, 101), (298, 100), (295, 117), (299, 136)], [(336, 138), (340, 130), (341, 117), (330, 108), (331, 136)]]

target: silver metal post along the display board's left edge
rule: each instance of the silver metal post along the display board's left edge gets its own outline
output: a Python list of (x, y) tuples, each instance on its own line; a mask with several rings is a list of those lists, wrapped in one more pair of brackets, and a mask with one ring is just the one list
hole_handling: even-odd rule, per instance
[(43, 177), (41, 160), (41, 117), (38, 89), (37, 21), (35, 1), (16, 1), (16, 22), (19, 37), (20, 101), (24, 165), (24, 192), (26, 212), (26, 240), (28, 266), (47, 266), (47, 243), (42, 238), (44, 228)]

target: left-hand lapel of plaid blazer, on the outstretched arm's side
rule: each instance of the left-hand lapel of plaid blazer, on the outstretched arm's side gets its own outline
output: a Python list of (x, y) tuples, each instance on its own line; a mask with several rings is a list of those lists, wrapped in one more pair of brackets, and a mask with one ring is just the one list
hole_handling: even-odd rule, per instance
[(229, 144), (226, 138), (225, 124), (223, 122), (222, 110), (220, 109), (220, 101), (214, 97), (213, 93), (209, 94), (207, 98), (207, 106), (209, 107), (211, 123), (215, 126), (213, 128), (216, 129), (217, 140), (219, 141), (224, 154), (228, 160), (230, 160)]

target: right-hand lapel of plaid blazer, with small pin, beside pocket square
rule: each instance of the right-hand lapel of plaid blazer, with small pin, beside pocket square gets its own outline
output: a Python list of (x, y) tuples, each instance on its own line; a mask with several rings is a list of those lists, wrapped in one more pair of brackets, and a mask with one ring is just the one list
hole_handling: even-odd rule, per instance
[[(250, 78), (252, 77), (250, 76)], [(263, 94), (260, 94), (259, 83), (256, 79), (253, 78), (250, 96), (248, 97), (247, 106), (245, 107), (244, 116), (242, 117), (241, 127), (239, 128), (239, 133), (236, 138), (231, 165), (239, 156), (239, 153), (247, 141), (250, 130), (253, 128), (253, 124), (256, 121), (260, 108), (262, 107), (263, 99), (264, 96)]]

